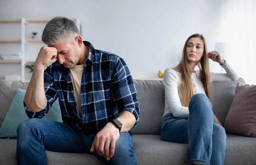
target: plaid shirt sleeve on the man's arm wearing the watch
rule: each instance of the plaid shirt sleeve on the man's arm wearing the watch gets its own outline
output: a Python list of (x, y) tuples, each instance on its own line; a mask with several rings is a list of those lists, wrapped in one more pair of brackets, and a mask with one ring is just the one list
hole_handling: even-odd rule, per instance
[(112, 92), (119, 113), (122, 111), (131, 112), (136, 118), (136, 123), (132, 128), (137, 126), (140, 115), (140, 104), (137, 99), (137, 92), (134, 80), (122, 58), (115, 62), (112, 74)]

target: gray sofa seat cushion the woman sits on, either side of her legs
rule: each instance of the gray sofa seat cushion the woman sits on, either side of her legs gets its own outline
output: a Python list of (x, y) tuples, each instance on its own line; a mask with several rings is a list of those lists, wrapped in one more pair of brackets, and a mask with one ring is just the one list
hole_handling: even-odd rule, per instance
[[(187, 144), (161, 141), (160, 135), (134, 137), (138, 165), (187, 165)], [(224, 165), (256, 165), (256, 138), (227, 134)]]

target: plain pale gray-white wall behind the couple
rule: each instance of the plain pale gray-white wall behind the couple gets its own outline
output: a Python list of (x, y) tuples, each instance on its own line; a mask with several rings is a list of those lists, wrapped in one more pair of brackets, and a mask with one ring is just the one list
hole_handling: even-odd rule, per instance
[[(82, 38), (125, 59), (134, 78), (157, 78), (158, 70), (177, 65), (191, 34), (203, 34), (209, 51), (221, 41), (221, 0), (0, 0), (0, 18), (55, 16), (79, 18)], [(40, 46), (27, 46), (31, 58)]]

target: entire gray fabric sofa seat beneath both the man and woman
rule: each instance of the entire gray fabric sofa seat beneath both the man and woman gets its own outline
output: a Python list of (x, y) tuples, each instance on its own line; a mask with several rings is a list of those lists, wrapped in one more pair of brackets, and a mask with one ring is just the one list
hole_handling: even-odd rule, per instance
[[(188, 145), (169, 143), (160, 135), (134, 137), (134, 149), (138, 165), (187, 165)], [(17, 165), (16, 139), (0, 139), (0, 165)], [(47, 151), (49, 165), (101, 165), (93, 155), (58, 153)], [(256, 138), (227, 134), (224, 165), (256, 165)]]

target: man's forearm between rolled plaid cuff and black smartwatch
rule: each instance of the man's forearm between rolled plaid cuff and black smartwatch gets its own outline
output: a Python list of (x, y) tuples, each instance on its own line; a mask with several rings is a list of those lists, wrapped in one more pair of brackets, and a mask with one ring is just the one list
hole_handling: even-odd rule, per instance
[(120, 132), (129, 131), (136, 123), (136, 118), (131, 112), (128, 111), (121, 112), (117, 119), (122, 123), (122, 129)]

